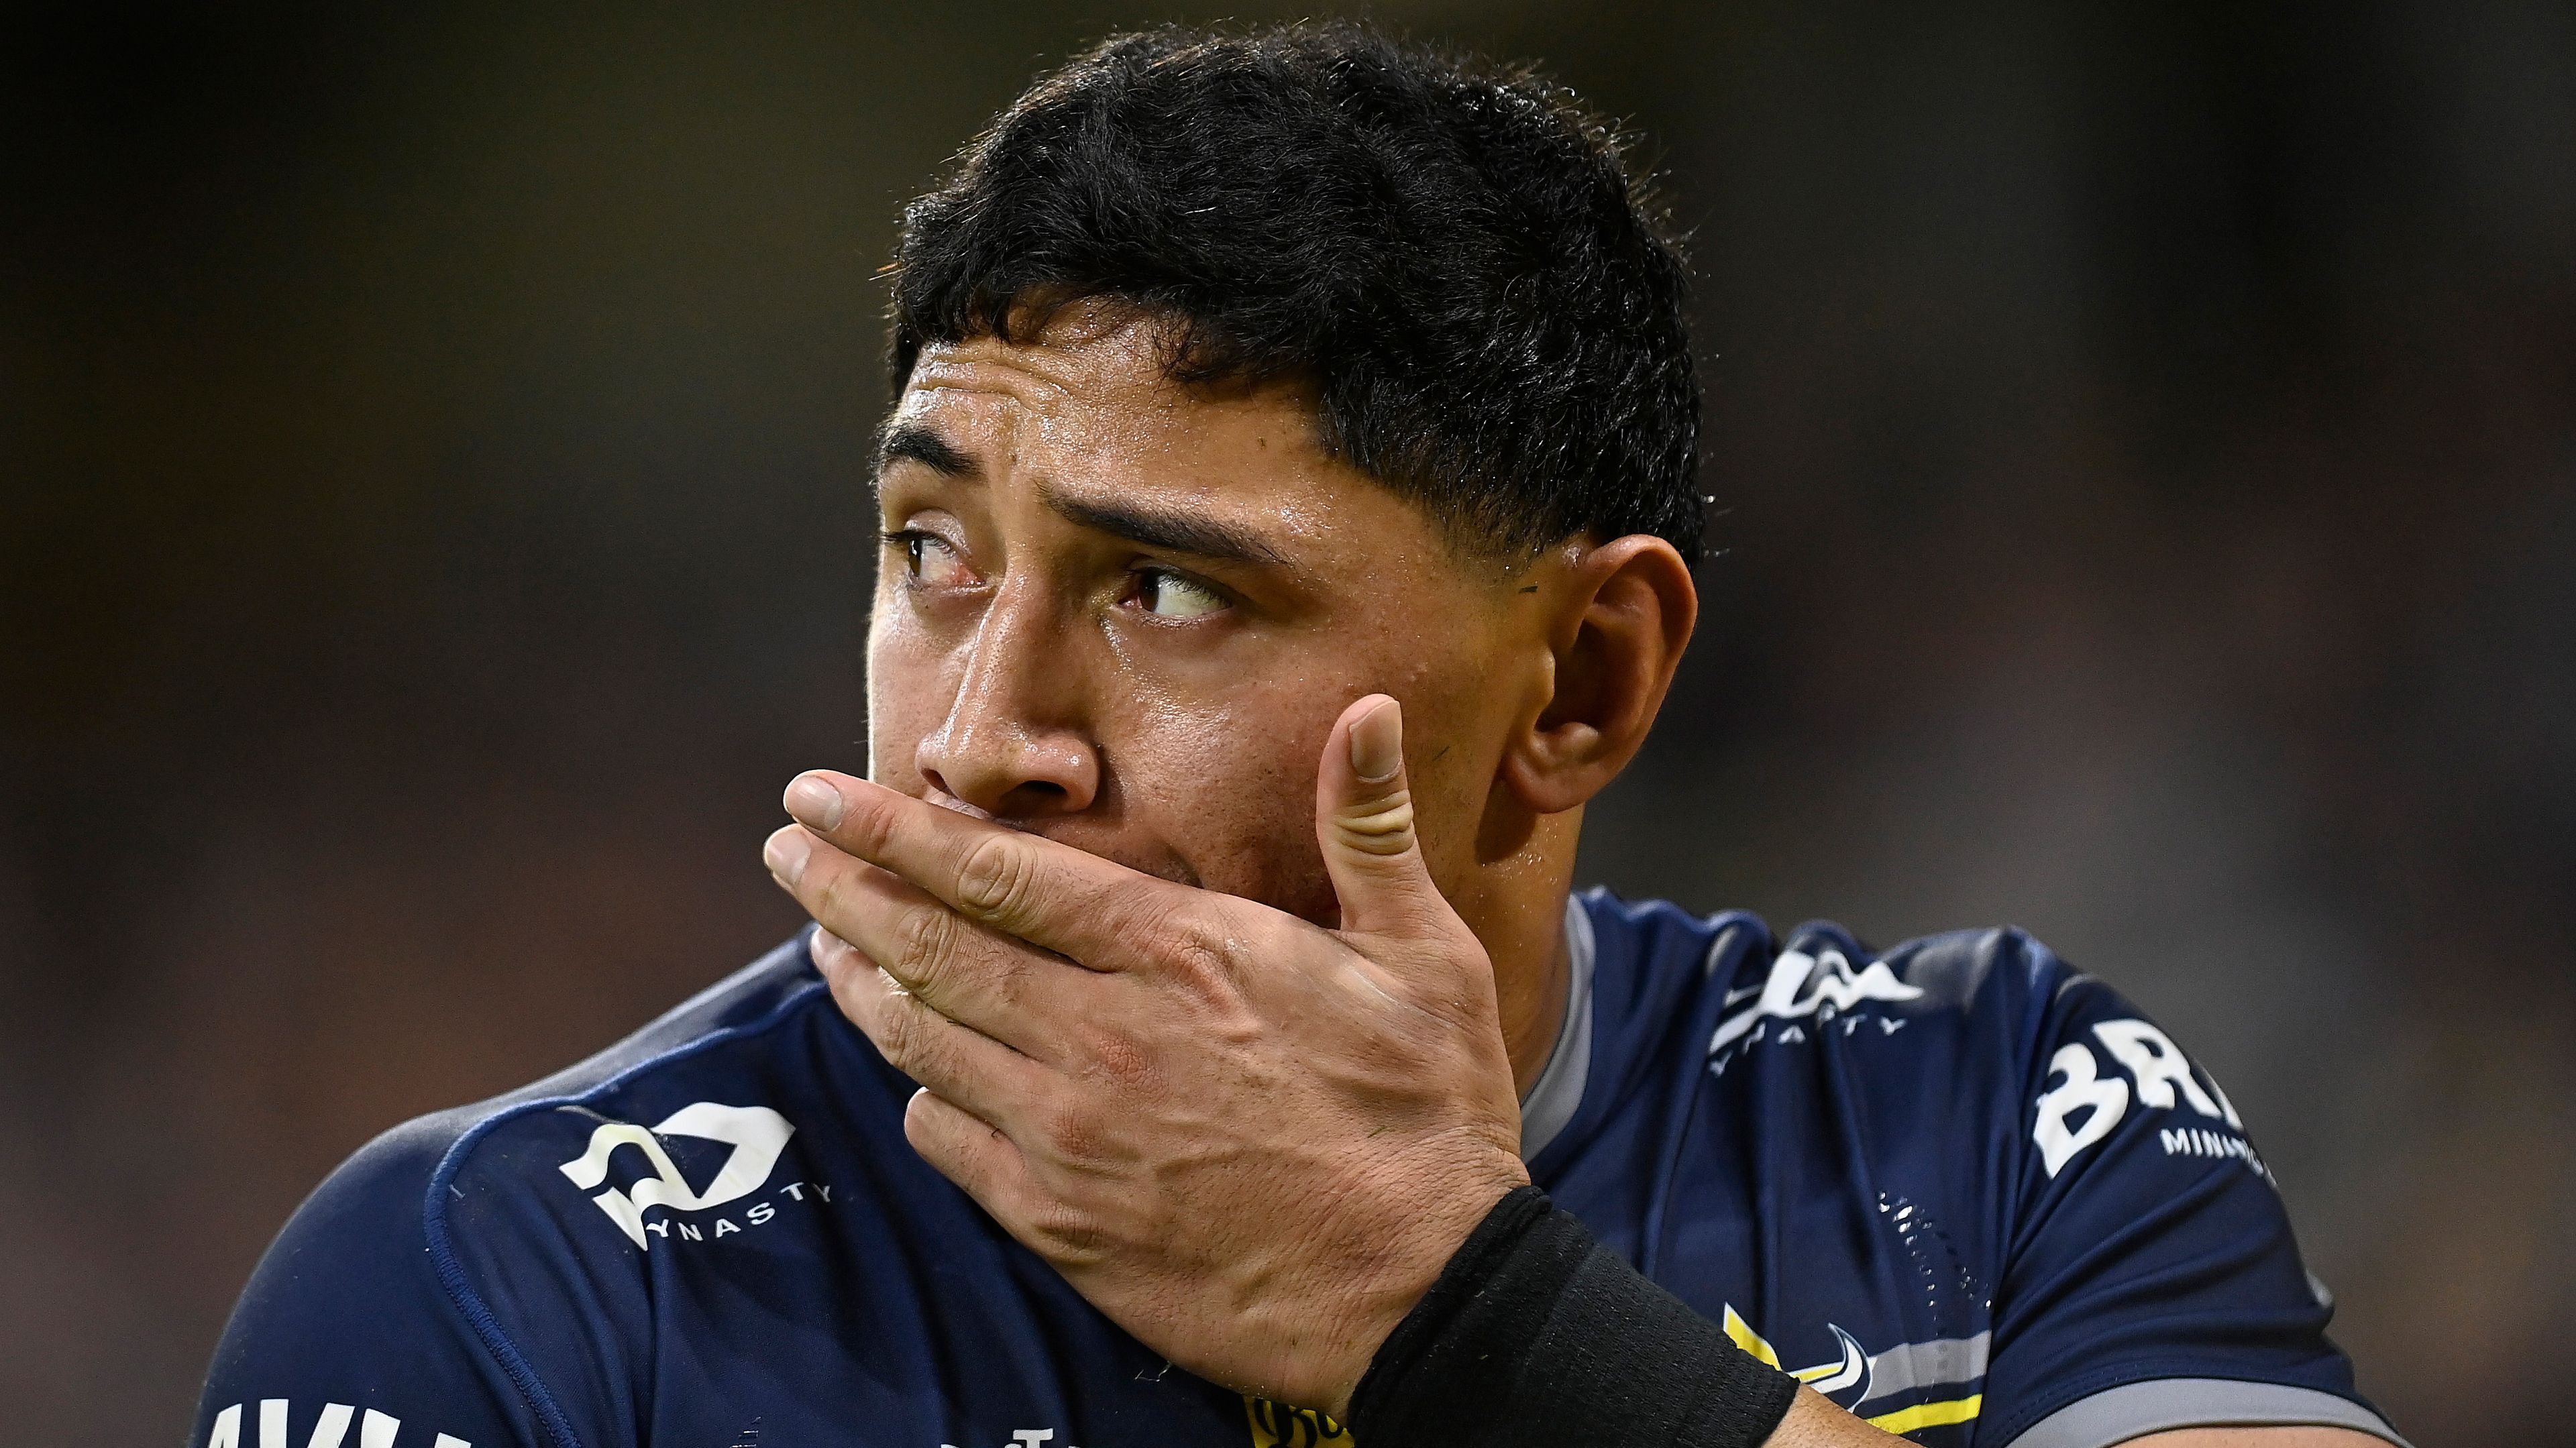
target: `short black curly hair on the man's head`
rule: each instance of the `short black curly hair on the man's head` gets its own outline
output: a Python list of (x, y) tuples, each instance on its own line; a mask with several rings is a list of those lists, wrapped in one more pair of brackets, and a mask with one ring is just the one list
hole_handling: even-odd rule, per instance
[(1685, 271), (1569, 90), (1358, 23), (1113, 36), (904, 209), (889, 366), (1077, 299), (1180, 381), (1303, 379), (1342, 459), (1479, 551), (1700, 557)]

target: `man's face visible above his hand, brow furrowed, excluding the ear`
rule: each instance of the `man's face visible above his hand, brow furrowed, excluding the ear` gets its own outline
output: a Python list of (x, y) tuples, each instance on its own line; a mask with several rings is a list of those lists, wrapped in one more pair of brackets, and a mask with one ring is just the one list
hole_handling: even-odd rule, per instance
[(871, 776), (1332, 922), (1316, 755), (1383, 691), (1455, 897), (1546, 698), (1538, 600), (1327, 456), (1298, 389), (1180, 389), (1159, 361), (1100, 309), (922, 353), (878, 477)]

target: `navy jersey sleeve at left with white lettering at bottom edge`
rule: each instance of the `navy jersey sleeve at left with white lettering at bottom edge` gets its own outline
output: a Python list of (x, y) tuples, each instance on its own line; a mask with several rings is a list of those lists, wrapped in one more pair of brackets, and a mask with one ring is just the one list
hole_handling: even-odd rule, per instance
[(188, 1448), (551, 1448), (422, 1229), (448, 1134), (397, 1129), (294, 1214), (232, 1311)]

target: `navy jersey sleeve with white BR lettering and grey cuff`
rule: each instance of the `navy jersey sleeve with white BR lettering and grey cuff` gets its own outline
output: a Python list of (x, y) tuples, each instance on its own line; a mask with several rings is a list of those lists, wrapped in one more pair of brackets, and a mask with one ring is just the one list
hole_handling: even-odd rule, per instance
[(2218, 1082), (2038, 951), (2017, 1201), (1976, 1440), (2102, 1448), (2210, 1425), (2391, 1443), (2326, 1340), (2269, 1167)]

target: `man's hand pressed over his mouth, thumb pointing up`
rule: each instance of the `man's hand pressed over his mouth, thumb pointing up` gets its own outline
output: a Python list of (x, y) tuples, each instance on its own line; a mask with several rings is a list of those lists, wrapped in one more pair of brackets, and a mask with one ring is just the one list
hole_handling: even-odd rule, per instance
[(801, 776), (793, 809), (770, 866), (824, 922), (835, 1000), (922, 1085), (907, 1139), (1170, 1360), (1340, 1409), (1528, 1180), (1396, 701), (1324, 747), (1340, 930), (848, 776)]

